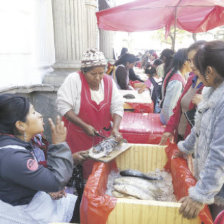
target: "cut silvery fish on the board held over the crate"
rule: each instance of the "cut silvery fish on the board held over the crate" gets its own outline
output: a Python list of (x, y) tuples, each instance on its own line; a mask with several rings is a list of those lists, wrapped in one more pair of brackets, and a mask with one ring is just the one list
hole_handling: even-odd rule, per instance
[(114, 137), (105, 138), (89, 150), (89, 155), (95, 159), (107, 156), (112, 151), (117, 150), (123, 142), (125, 142), (124, 139), (117, 141)]

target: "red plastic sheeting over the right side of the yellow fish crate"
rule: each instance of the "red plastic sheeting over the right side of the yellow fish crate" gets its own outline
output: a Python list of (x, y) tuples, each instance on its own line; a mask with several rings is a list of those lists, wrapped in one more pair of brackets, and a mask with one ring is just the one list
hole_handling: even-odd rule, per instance
[[(173, 158), (178, 151), (177, 145), (170, 143), (166, 148), (167, 164), (165, 169), (171, 172), (173, 179), (173, 189), (177, 200), (188, 195), (188, 189), (196, 184), (196, 179), (188, 169), (187, 161), (182, 158)], [(212, 217), (208, 206), (199, 213), (199, 217), (204, 224), (212, 224)]]

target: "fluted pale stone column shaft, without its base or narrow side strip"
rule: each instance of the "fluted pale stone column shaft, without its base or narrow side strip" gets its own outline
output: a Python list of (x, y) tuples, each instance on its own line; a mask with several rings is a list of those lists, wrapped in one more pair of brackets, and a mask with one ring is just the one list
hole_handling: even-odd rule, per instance
[(83, 0), (52, 0), (54, 68), (79, 68), (86, 50), (86, 9)]

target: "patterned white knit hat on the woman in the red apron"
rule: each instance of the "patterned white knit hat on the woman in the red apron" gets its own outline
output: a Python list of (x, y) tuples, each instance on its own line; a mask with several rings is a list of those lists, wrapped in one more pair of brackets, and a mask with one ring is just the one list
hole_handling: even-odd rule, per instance
[(95, 66), (106, 66), (107, 61), (104, 57), (103, 52), (98, 51), (97, 49), (87, 50), (81, 60), (81, 68), (89, 68)]

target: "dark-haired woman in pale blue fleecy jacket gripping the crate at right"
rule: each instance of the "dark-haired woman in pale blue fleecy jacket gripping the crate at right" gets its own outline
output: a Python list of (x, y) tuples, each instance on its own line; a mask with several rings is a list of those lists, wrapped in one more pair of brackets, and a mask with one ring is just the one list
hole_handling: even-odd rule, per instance
[[(194, 58), (195, 71), (204, 84), (195, 125), (178, 143), (176, 156), (194, 153), (193, 175), (197, 180), (189, 196), (181, 199), (180, 213), (194, 218), (204, 204), (210, 205), (213, 219), (224, 208), (224, 41), (207, 42)], [(220, 207), (221, 206), (221, 207)]]

